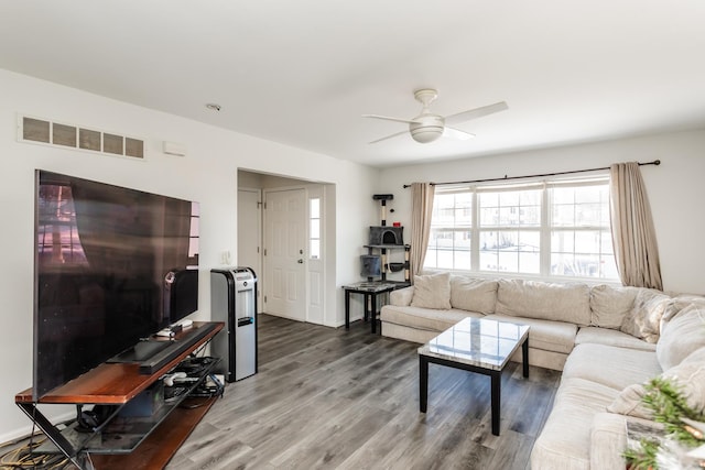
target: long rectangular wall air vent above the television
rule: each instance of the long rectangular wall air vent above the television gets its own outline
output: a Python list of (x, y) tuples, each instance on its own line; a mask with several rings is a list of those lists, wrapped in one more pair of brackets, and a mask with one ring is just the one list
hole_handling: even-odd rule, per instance
[(113, 132), (64, 124), (40, 118), (18, 118), (18, 140), (52, 146), (144, 159), (144, 141)]

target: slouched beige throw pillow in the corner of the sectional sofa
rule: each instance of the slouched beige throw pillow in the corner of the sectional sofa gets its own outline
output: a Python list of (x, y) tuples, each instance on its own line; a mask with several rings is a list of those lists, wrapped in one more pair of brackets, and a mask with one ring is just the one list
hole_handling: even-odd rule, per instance
[(657, 342), (661, 317), (670, 298), (661, 291), (640, 288), (634, 305), (625, 316), (619, 330), (647, 342)]

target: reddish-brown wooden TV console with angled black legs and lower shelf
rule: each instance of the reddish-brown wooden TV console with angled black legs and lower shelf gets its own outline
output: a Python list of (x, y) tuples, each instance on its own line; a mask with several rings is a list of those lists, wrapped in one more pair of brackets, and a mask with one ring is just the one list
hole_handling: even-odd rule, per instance
[[(144, 462), (150, 462), (150, 468), (163, 468), (216, 398), (187, 398), (187, 394), (184, 394), (183, 398), (162, 405), (153, 416), (132, 418), (134, 426), (127, 426), (130, 429), (124, 429), (122, 434), (109, 428), (110, 420), (122, 406), (174, 369), (193, 351), (210, 341), (223, 328), (223, 323), (194, 323), (192, 328), (175, 337), (176, 342), (184, 341), (188, 346), (177, 348), (173, 358), (170, 357), (170, 361), (153, 373), (140, 373), (137, 363), (104, 363), (51, 391), (39, 402), (33, 401), (32, 389), (18, 393), (14, 402), (58, 451), (82, 470), (93, 469), (94, 463), (97, 463), (100, 470), (138, 468)], [(197, 340), (189, 340), (189, 335)], [(204, 374), (200, 380), (205, 380), (206, 376), (207, 374)], [(194, 383), (193, 387), (196, 385)], [(200, 400), (204, 403), (196, 408), (178, 408), (183, 400)], [(40, 404), (116, 406), (111, 417), (94, 433), (79, 433), (76, 430), (76, 424), (59, 430), (40, 412)]]

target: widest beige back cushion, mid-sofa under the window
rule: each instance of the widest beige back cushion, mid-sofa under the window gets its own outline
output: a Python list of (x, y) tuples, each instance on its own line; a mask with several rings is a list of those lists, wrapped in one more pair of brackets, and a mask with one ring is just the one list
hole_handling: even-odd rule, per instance
[(590, 288), (587, 284), (499, 280), (495, 311), (589, 326)]

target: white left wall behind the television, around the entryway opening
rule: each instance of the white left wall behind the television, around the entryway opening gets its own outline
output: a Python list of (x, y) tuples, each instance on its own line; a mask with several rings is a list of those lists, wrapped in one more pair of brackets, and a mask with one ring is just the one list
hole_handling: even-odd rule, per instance
[[(177, 99), (178, 97), (175, 97)], [(327, 294), (325, 324), (344, 321), (343, 292), (357, 280), (362, 228), (376, 218), (371, 194), (376, 170), (305, 152), (212, 125), (106, 99), (76, 89), (0, 70), (0, 195), (4, 269), (0, 271), (0, 442), (29, 431), (14, 395), (32, 385), (32, 285), (34, 170), (133, 187), (200, 203), (200, 310), (209, 318), (210, 267), (219, 253), (237, 253), (237, 168), (323, 181), (336, 185), (336, 282)], [(17, 141), (17, 113), (91, 127), (145, 140), (144, 162)], [(167, 140), (187, 147), (185, 157), (161, 153)], [(234, 260), (237, 263), (237, 260)], [(47, 407), (47, 413), (53, 408)], [(54, 413), (55, 414), (55, 413)]]

